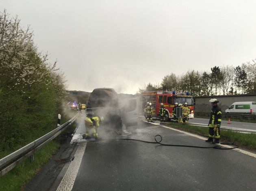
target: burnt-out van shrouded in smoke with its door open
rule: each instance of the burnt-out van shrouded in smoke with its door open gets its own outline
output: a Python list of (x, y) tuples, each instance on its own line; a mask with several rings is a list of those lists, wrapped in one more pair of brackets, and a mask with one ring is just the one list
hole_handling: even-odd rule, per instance
[(102, 125), (106, 130), (121, 132), (125, 127), (137, 127), (138, 104), (137, 99), (118, 99), (118, 94), (113, 88), (96, 88), (89, 97), (87, 111), (91, 110), (94, 116), (104, 117)]

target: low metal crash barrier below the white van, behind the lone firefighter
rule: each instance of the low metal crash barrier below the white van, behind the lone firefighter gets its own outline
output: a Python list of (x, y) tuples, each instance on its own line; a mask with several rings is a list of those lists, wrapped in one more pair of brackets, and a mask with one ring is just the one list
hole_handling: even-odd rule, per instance
[[(250, 114), (250, 113), (221, 113), (222, 118), (227, 119), (252, 119), (256, 120), (256, 114)], [(195, 116), (197, 117), (210, 117), (210, 112), (195, 112)]]

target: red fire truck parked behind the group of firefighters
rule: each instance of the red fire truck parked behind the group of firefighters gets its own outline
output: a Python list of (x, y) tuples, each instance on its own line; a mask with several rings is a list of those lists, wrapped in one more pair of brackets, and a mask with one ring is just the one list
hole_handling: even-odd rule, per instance
[[(187, 103), (190, 112), (189, 112), (189, 119), (194, 118), (194, 102), (193, 97), (189, 95), (189, 92), (182, 93), (182, 92), (167, 92), (167, 91), (147, 91), (141, 93), (141, 110), (144, 112), (145, 105), (147, 102), (150, 102), (152, 107), (152, 115), (153, 117), (160, 117), (159, 116), (159, 108), (161, 103), (164, 104), (165, 107), (165, 120), (170, 121), (174, 118), (172, 114), (172, 109), (175, 103), (182, 104)], [(145, 115), (145, 112), (144, 112)]]

